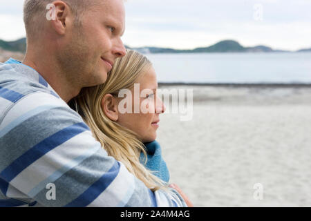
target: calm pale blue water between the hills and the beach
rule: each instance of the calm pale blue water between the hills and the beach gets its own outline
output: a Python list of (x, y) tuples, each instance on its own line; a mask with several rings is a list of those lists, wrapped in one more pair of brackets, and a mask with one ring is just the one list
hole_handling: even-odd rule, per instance
[(159, 82), (309, 83), (311, 52), (147, 54)]

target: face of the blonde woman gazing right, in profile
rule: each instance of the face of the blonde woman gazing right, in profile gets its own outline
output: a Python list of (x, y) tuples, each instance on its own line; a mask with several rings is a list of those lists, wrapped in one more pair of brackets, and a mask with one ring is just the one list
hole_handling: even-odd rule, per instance
[[(119, 111), (116, 122), (135, 132), (141, 142), (151, 142), (156, 140), (156, 131), (160, 122), (159, 115), (165, 111), (162, 100), (157, 96), (158, 82), (155, 70), (151, 67), (135, 84), (137, 88), (139, 85), (139, 94), (138, 89), (136, 93), (134, 93), (135, 88), (131, 89), (132, 112), (120, 113)], [(120, 101), (122, 99), (120, 98)], [(139, 104), (138, 101), (140, 101)], [(134, 112), (135, 105), (137, 106), (136, 112)], [(137, 113), (138, 107), (139, 113)]]

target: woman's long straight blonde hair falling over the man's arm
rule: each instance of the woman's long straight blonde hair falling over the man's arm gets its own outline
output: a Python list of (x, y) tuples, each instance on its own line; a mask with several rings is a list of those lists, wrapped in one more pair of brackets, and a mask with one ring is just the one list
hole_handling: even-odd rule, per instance
[(83, 88), (73, 100), (73, 105), (107, 153), (122, 162), (126, 169), (144, 182), (149, 189), (156, 191), (166, 189), (166, 185), (140, 163), (140, 153), (144, 153), (147, 161), (144, 144), (138, 140), (133, 131), (109, 119), (101, 106), (104, 95), (117, 96), (120, 90), (133, 88), (135, 81), (151, 66), (151, 62), (144, 55), (135, 50), (126, 50), (124, 57), (116, 59), (106, 82), (99, 86)]

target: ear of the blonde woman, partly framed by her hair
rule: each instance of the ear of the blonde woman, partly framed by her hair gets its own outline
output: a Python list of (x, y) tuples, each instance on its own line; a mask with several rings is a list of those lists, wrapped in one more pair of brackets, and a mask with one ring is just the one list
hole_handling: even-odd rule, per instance
[(113, 122), (116, 122), (119, 118), (119, 112), (117, 111), (117, 99), (111, 94), (104, 95), (101, 106), (104, 114)]

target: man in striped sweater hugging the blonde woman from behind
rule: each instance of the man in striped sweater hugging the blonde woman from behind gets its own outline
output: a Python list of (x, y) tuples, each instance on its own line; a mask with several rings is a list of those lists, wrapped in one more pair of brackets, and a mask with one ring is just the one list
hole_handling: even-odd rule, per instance
[(66, 104), (125, 55), (124, 17), (122, 0), (25, 1), (26, 57), (0, 65), (0, 206), (186, 206), (109, 157)]

